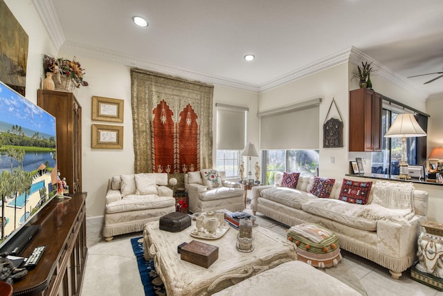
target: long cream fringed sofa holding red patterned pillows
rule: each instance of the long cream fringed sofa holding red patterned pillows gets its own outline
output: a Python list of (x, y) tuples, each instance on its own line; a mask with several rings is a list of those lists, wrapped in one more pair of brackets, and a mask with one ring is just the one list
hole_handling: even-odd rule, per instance
[[(395, 279), (417, 259), (417, 237), (426, 221), (428, 193), (410, 189), (413, 183), (374, 181), (368, 203), (361, 205), (339, 199), (343, 181), (335, 181), (329, 198), (309, 194), (312, 176), (300, 176), (296, 189), (281, 187), (281, 181), (282, 173), (278, 173), (275, 185), (253, 187), (254, 214), (260, 212), (289, 226), (323, 225), (338, 235), (341, 248), (388, 268)], [(397, 206), (404, 208), (392, 207), (396, 194), (407, 192), (401, 191), (403, 187), (410, 190), (409, 195), (405, 193), (409, 201), (402, 200), (410, 203), (410, 212), (402, 201)]]

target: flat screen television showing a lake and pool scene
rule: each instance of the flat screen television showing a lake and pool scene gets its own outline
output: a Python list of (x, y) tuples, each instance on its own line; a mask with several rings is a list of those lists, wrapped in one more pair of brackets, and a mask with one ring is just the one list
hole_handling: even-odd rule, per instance
[(12, 241), (38, 232), (26, 224), (57, 193), (55, 132), (53, 115), (0, 82), (0, 252), (19, 255)]

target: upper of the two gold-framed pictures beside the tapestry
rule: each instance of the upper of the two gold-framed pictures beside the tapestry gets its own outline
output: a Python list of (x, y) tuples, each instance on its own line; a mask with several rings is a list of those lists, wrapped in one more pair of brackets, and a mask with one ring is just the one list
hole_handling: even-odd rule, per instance
[(92, 120), (123, 122), (123, 100), (92, 96)]

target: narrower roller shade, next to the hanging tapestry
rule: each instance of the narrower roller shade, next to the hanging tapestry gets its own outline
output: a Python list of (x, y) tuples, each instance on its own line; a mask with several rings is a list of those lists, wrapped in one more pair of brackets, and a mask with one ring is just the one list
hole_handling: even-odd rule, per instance
[(245, 142), (246, 111), (243, 107), (217, 106), (217, 149), (242, 150)]

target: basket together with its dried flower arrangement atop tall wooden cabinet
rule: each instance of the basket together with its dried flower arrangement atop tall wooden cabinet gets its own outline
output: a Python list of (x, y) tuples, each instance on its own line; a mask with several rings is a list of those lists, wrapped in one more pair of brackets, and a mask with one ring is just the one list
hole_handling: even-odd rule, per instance
[(83, 80), (84, 68), (75, 61), (75, 57), (70, 59), (55, 58), (50, 55), (44, 55), (43, 68), (45, 73), (55, 75), (55, 88), (68, 89), (72, 91), (74, 87), (88, 86), (88, 82)]

